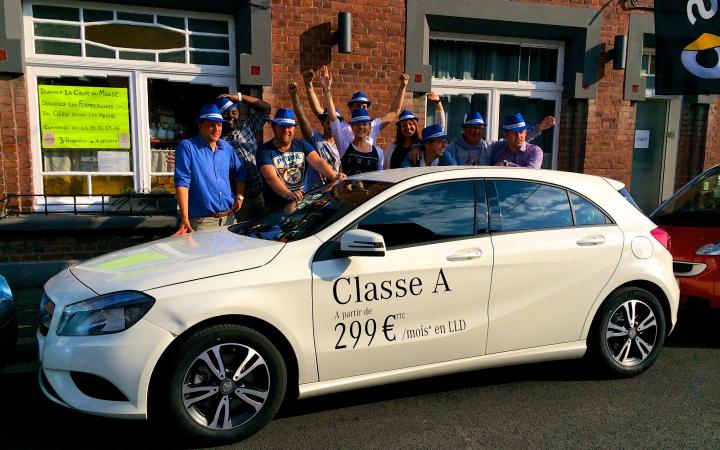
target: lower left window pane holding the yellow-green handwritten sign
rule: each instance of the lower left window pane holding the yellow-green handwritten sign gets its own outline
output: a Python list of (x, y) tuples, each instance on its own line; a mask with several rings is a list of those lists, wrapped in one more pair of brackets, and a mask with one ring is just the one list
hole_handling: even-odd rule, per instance
[(38, 77), (46, 194), (133, 187), (128, 86), (126, 77)]

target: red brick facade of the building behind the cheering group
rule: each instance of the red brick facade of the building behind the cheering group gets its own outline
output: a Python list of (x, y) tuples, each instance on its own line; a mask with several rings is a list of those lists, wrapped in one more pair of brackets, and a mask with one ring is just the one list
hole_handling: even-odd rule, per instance
[[(629, 185), (636, 103), (624, 99), (625, 71), (612, 68), (610, 50), (616, 35), (628, 34), (630, 9), (624, 2), (600, 0), (524, 1), (601, 11), (597, 95), (590, 100), (563, 100), (558, 169), (609, 176)], [(339, 54), (334, 42), (338, 11), (352, 14), (353, 52), (349, 55)], [(343, 114), (348, 114), (346, 101), (360, 89), (373, 100), (371, 114), (377, 116), (387, 111), (397, 91), (398, 76), (405, 67), (405, 2), (275, 0), (271, 17), (272, 86), (262, 89), (265, 100), (274, 107), (289, 107), (288, 83), (302, 85), (303, 70), (327, 64), (334, 78), (333, 95)], [(319, 83), (315, 86), (321, 94)], [(302, 88), (300, 94), (307, 105)], [(424, 105), (420, 94), (406, 94), (404, 107), (421, 118), (425, 117)], [(718, 106), (720, 102), (708, 106), (684, 105), (676, 185), (701, 167), (720, 163)], [(307, 106), (306, 113), (310, 115)], [(38, 169), (38, 164), (33, 165), (29, 144), (24, 76), (0, 80), (0, 115), (0, 194), (38, 193), (38, 187), (33, 186), (33, 170)], [(319, 126), (314, 120), (313, 124)], [(394, 139), (394, 131), (391, 125), (380, 135), (382, 147)], [(269, 137), (266, 127), (265, 138)]]

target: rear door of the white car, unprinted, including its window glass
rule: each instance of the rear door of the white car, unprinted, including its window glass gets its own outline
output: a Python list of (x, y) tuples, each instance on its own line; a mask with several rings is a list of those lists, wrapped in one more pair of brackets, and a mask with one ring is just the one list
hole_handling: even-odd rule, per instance
[(622, 232), (565, 189), (517, 180), (494, 188), (487, 353), (577, 341), (620, 260)]

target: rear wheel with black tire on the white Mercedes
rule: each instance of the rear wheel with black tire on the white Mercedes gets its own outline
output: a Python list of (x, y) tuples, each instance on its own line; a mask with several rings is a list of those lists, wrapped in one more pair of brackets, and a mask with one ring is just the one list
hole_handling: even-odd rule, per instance
[(658, 299), (641, 288), (610, 294), (598, 312), (591, 356), (610, 374), (632, 377), (650, 367), (665, 342), (665, 313)]

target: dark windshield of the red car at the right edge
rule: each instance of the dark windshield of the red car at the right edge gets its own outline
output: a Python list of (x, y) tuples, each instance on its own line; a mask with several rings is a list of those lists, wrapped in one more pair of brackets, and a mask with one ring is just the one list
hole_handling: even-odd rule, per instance
[(712, 170), (685, 186), (652, 219), (657, 224), (720, 226), (720, 171)]

